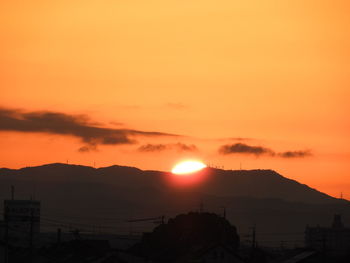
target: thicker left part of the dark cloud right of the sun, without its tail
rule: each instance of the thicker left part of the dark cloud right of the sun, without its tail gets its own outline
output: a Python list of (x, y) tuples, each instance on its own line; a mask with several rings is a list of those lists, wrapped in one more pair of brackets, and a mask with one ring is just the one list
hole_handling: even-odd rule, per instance
[(221, 154), (233, 154), (233, 153), (242, 153), (242, 154), (254, 154), (256, 156), (260, 155), (274, 155), (274, 152), (262, 146), (251, 146), (244, 143), (235, 143), (227, 144), (220, 147), (219, 152)]

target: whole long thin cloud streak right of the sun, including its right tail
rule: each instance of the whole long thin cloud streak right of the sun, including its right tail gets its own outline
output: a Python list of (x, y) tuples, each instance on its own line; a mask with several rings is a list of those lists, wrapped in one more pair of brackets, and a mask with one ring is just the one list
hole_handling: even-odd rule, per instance
[(311, 151), (285, 151), (276, 153), (270, 148), (262, 146), (252, 146), (244, 143), (227, 144), (219, 148), (221, 154), (254, 154), (256, 156), (269, 155), (282, 158), (303, 158), (311, 156)]

